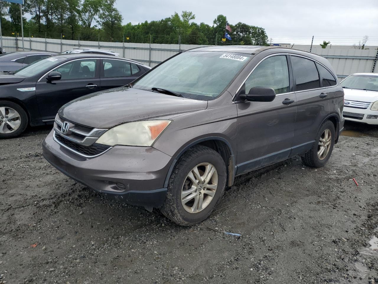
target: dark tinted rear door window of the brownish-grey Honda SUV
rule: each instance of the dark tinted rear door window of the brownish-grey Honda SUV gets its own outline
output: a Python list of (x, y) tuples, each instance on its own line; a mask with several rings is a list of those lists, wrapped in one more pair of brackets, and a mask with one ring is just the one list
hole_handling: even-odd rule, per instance
[(314, 61), (298, 56), (290, 56), (290, 61), (296, 80), (296, 91), (320, 88), (319, 73)]

